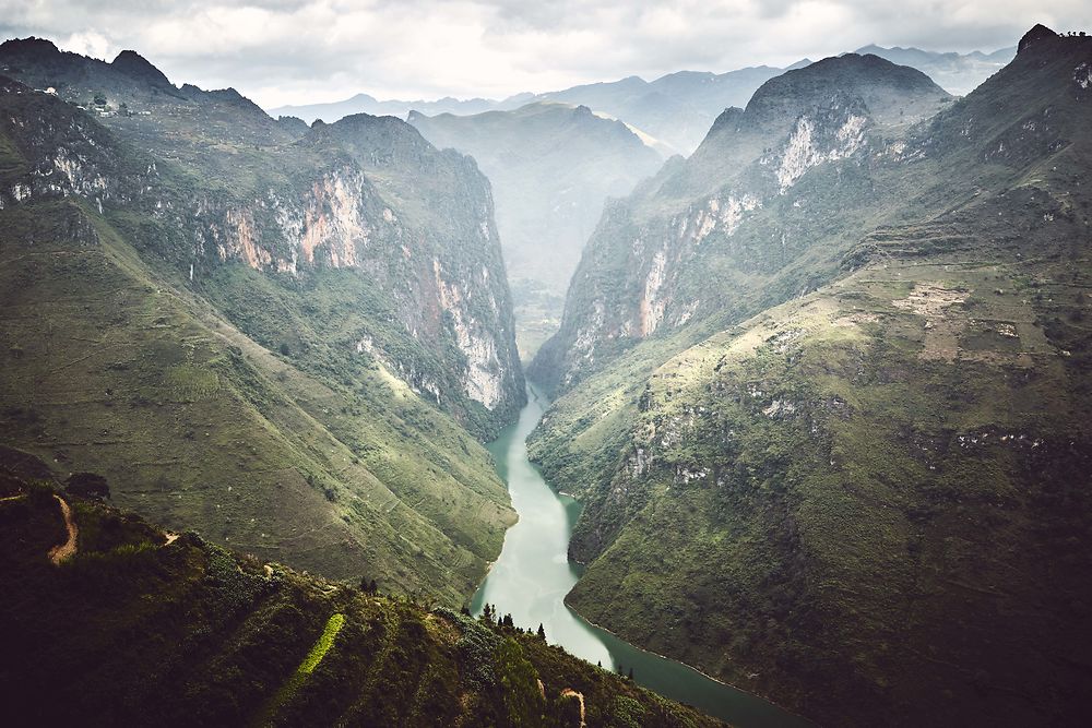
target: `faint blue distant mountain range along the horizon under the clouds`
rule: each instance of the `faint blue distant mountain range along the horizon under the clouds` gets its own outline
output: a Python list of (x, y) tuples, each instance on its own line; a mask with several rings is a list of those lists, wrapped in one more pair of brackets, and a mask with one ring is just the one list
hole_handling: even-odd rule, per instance
[[(1016, 48), (1001, 48), (992, 53), (977, 50), (957, 53), (868, 45), (854, 52), (860, 56), (871, 53), (892, 63), (915, 68), (948, 93), (962, 96), (1012, 60)], [(597, 114), (625, 121), (634, 130), (643, 132), (644, 141), (661, 152), (688, 155), (698, 147), (721, 111), (729, 106), (746, 106), (751, 94), (763, 83), (810, 62), (803, 59), (786, 68), (757, 65), (726, 73), (678, 71), (655, 81), (645, 81), (634, 75), (542, 94), (517, 94), (500, 100), (464, 100), (450, 96), (435, 102), (379, 100), (368, 94), (357, 94), (329, 104), (282, 106), (270, 109), (270, 115), (297, 117), (310, 123), (314, 119), (336, 121), (349, 114), (400, 118), (405, 118), (410, 111), (426, 116), (468, 116), (490, 110), (517, 109), (536, 102), (561, 102), (573, 106), (583, 105)]]

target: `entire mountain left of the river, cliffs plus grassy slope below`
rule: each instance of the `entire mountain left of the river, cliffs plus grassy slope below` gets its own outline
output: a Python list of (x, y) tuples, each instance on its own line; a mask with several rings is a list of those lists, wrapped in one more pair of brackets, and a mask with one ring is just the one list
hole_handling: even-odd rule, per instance
[(0, 440), (170, 527), (461, 604), (514, 518), (472, 435), (524, 396), (473, 162), (395, 120), (284, 136), (40, 43), (0, 59), (154, 112), (0, 81)]

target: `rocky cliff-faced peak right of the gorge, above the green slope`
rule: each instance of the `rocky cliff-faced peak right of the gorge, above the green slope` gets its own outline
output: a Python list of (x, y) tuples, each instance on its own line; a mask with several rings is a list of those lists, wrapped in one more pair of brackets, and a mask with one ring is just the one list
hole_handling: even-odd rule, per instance
[[(871, 166), (948, 94), (913, 69), (842, 56), (790, 71), (728, 109), (685, 163), (668, 165), (604, 215), (573, 278), (566, 317), (531, 368), (566, 387), (618, 350), (749, 296), (799, 293), (794, 264), (819, 243), (829, 189), (812, 169), (871, 203)], [(826, 186), (827, 182), (823, 182)], [(750, 225), (740, 230), (740, 225)], [(830, 220), (821, 220), (831, 227)], [(770, 244), (773, 239), (779, 244)], [(709, 273), (731, 276), (727, 288)], [(767, 290), (762, 290), (767, 289)]]

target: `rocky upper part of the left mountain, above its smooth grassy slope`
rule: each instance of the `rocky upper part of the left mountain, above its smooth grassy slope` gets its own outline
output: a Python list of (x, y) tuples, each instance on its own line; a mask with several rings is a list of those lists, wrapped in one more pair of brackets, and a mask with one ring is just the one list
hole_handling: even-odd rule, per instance
[[(5, 145), (21, 163), (5, 176), (7, 203), (20, 202), (15, 184), (27, 196), (83, 196), (263, 343), (270, 332), (251, 329), (260, 317), (234, 302), (275, 297), (274, 326), (287, 338), (336, 319), (345, 338), (323, 342), (321, 354), (341, 349), (343, 365), (369, 348), (480, 439), (521, 406), (491, 193), (468, 158), (396, 119), (359, 115), (301, 131), (232, 89), (176, 88), (131, 52), (105, 63), (11, 40), (0, 68), (15, 80), (0, 99), (11, 112)], [(46, 87), (57, 95), (31, 93)], [(240, 266), (265, 279), (233, 271)], [(340, 295), (308, 296), (323, 287)]]

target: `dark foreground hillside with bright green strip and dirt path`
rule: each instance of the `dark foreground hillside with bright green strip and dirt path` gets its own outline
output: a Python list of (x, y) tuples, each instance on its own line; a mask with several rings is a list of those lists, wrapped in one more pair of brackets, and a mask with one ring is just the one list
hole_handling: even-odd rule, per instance
[[(13, 454), (5, 465), (33, 465)], [(0, 575), (16, 587), (0, 606), (8, 725), (720, 725), (530, 631), (234, 556), (68, 493), (75, 550), (55, 565), (55, 492), (0, 469)]]

